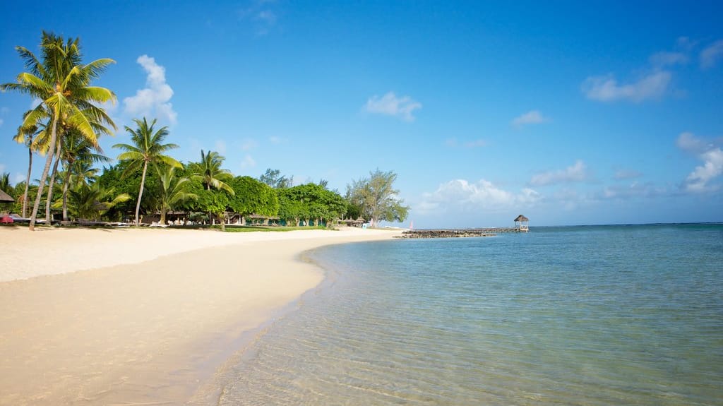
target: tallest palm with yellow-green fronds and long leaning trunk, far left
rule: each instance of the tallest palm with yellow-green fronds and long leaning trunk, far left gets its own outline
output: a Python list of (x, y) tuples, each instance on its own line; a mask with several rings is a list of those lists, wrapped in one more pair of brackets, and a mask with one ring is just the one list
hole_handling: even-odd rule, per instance
[[(25, 67), (30, 72), (19, 74), (16, 83), (0, 86), (0, 90), (15, 90), (40, 99), (40, 104), (25, 116), (22, 127), (38, 124), (48, 113), (51, 115), (51, 137), (48, 142), (51, 147), (48, 148), (38, 195), (30, 215), (30, 230), (35, 228), (43, 186), (54, 159), (59, 124), (77, 128), (83, 137), (94, 144), (97, 143), (98, 135), (93, 123), (108, 123), (115, 128), (106, 111), (93, 103), (115, 103), (116, 95), (105, 87), (90, 86), (90, 82), (97, 79), (114, 61), (97, 59), (82, 65), (77, 38), (70, 38), (64, 43), (62, 37), (46, 32), (43, 32), (40, 49), (42, 61), (27, 48), (17, 47), (20, 58), (25, 61)], [(50, 223), (51, 219), (46, 218), (46, 221)]]

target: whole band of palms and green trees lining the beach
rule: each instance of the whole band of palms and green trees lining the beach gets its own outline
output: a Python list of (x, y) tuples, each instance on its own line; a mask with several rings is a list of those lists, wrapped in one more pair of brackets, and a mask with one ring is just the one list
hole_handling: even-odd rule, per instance
[[(1, 90), (17, 91), (40, 100), (22, 116), (14, 140), (28, 153), (27, 176), (10, 184), (9, 174), (0, 176), (0, 189), (14, 203), (1, 211), (30, 214), (35, 227), (41, 204), (45, 223), (53, 212), (66, 223), (119, 221), (158, 222), (168, 216), (177, 224), (214, 225), (227, 223), (252, 226), (331, 227), (337, 220), (364, 217), (380, 221), (403, 221), (408, 207), (398, 198), (393, 183), (396, 174), (376, 170), (369, 178), (352, 181), (346, 196), (328, 189), (328, 181), (294, 185), (293, 176), (268, 168), (258, 178), (234, 176), (223, 168), (225, 157), (201, 150), (197, 162), (181, 163), (168, 153), (178, 145), (166, 126), (155, 118), (136, 118), (124, 126), (129, 143), (115, 144), (116, 163), (104, 155), (98, 139), (113, 134), (114, 122), (103, 103), (114, 102), (111, 90), (91, 85), (111, 59), (84, 64), (80, 40), (43, 33), (40, 55), (17, 47), (27, 72)], [(40, 179), (31, 179), (34, 155), (46, 157)], [(99, 164), (107, 164), (98, 168)], [(34, 202), (28, 213), (28, 202)]]

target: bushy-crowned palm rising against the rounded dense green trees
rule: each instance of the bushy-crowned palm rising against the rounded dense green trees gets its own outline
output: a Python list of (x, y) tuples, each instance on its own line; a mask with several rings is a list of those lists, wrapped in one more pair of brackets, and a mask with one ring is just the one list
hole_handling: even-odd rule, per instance
[[(212, 214), (218, 215), (221, 218), (221, 230), (226, 230), (224, 224), (224, 214), (228, 207), (228, 196), (224, 194), (225, 191), (228, 194), (234, 195), (234, 189), (228, 186), (226, 183), (230, 181), (234, 176), (228, 169), (221, 169), (221, 164), (226, 158), (218, 155), (218, 152), (209, 151), (205, 154), (201, 150), (200, 162), (190, 163), (189, 167), (193, 175), (191, 178), (194, 181), (202, 183), (205, 187), (206, 193), (199, 194), (199, 203), (205, 206), (205, 211), (208, 212), (208, 217)], [(215, 189), (212, 191), (211, 188)]]

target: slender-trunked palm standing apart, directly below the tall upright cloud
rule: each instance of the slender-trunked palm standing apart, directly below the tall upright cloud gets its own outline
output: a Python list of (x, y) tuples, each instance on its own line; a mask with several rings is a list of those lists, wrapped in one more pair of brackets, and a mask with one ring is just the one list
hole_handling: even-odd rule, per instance
[(139, 166), (143, 166), (143, 174), (140, 180), (140, 190), (138, 191), (138, 202), (136, 203), (135, 217), (135, 223), (136, 225), (139, 225), (138, 213), (140, 212), (140, 199), (143, 196), (145, 173), (147, 172), (148, 164), (165, 163), (166, 165), (171, 165), (176, 168), (180, 168), (182, 165), (179, 161), (174, 160), (174, 158), (169, 157), (168, 155), (163, 155), (163, 152), (173, 148), (178, 148), (178, 145), (176, 144), (162, 144), (163, 139), (168, 137), (168, 127), (161, 127), (160, 129), (154, 131), (153, 126), (155, 126), (155, 118), (153, 118), (150, 126), (148, 125), (148, 121), (146, 121), (145, 117), (142, 121), (137, 118), (134, 118), (133, 121), (135, 121), (138, 128), (132, 129), (129, 126), (126, 126), (126, 131), (131, 134), (131, 140), (134, 145), (115, 144), (113, 147), (125, 151), (118, 155), (118, 160), (129, 161), (129, 165), (124, 172), (124, 176), (127, 176), (128, 173), (137, 170)]

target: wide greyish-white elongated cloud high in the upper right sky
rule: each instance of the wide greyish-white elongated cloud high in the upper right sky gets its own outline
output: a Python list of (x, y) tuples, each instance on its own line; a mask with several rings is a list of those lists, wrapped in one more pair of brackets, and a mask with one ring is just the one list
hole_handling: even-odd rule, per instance
[(583, 82), (582, 91), (591, 100), (641, 102), (661, 97), (667, 90), (671, 77), (670, 72), (658, 71), (628, 85), (618, 85), (612, 75), (589, 77)]

